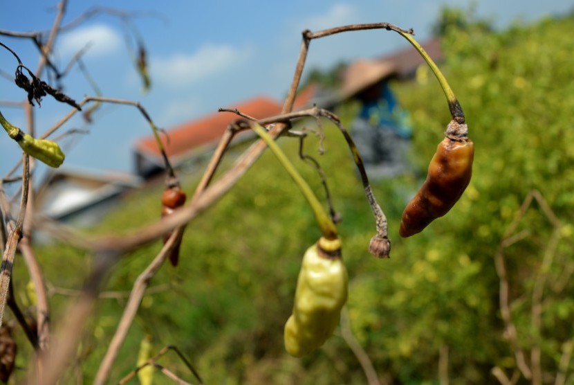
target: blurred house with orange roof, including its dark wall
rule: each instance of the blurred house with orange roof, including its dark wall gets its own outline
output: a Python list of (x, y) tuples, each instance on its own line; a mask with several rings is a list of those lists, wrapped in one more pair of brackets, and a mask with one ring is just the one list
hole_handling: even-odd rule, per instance
[[(243, 114), (254, 118), (266, 118), (281, 113), (281, 103), (266, 96), (257, 96), (231, 106)], [(201, 118), (190, 120), (160, 134), (165, 152), (175, 168), (187, 162), (201, 159), (216, 147), (228, 125), (239, 116), (230, 112), (214, 112)], [(240, 132), (232, 144), (241, 143), (252, 137), (252, 132)], [(136, 174), (142, 178), (154, 176), (164, 168), (163, 156), (156, 138), (146, 136), (136, 141), (133, 150), (136, 160)]]

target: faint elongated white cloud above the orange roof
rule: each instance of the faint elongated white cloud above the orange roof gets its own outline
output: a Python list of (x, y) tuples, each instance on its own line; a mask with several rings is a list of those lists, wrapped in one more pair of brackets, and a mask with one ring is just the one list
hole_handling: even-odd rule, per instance
[(192, 54), (176, 53), (171, 57), (152, 59), (150, 69), (156, 84), (179, 88), (222, 73), (245, 57), (245, 50), (206, 44)]

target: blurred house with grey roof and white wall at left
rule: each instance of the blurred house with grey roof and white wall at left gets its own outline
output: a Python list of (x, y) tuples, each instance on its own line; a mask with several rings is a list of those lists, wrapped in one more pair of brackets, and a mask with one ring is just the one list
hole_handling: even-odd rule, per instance
[(96, 224), (122, 194), (142, 185), (131, 174), (55, 170), (40, 183), (35, 205), (41, 215), (75, 226)]

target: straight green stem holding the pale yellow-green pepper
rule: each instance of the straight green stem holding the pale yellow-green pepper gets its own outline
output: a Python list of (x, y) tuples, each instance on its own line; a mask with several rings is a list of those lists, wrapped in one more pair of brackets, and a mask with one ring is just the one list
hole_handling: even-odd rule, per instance
[(261, 125), (254, 123), (251, 125), (251, 128), (269, 146), (273, 154), (275, 154), (275, 156), (277, 156), (277, 159), (279, 159), (281, 165), (283, 165), (283, 167), (285, 168), (285, 170), (287, 170), (291, 178), (293, 178), (295, 183), (297, 183), (297, 186), (299, 186), (299, 190), (301, 190), (304, 197), (307, 199), (307, 202), (311, 206), (311, 209), (313, 209), (315, 219), (317, 220), (317, 224), (319, 225), (319, 228), (324, 238), (328, 240), (336, 239), (337, 228), (335, 227), (335, 224), (333, 224), (331, 219), (329, 219), (328, 215), (325, 213), (323, 207), (321, 206), (319, 199), (317, 199), (317, 196), (315, 196), (315, 193), (313, 193), (311, 187), (309, 187), (305, 179), (303, 179), (301, 174), (299, 174), (297, 169), (293, 166), (293, 163), (291, 163), (289, 159), (287, 159), (287, 156), (284, 154), (281, 148), (279, 148), (279, 145), (277, 145), (277, 143), (273, 141), (273, 139), (267, 134), (266, 130), (263, 127), (261, 127)]

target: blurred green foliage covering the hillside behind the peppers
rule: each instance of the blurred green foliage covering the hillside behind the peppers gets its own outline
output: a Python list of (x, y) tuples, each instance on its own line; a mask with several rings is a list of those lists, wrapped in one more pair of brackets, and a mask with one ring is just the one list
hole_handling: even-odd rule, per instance
[[(574, 55), (571, 35), (564, 33), (574, 29), (574, 18), (544, 19), (502, 33), (490, 32), (482, 22), (459, 27), (442, 30), (446, 60), (441, 67), (474, 141), (473, 179), (445, 217), (423, 233), (399, 238), (402, 209), (422, 183), (450, 116), (434, 79), (394, 84), (414, 122), (417, 172), (373, 183), (389, 219), (390, 260), (367, 253), (375, 233), (369, 206), (343, 138), (335, 127), (325, 128), (326, 153), (317, 158), (343, 217), (339, 229), (349, 269), (351, 328), (383, 384), (437, 384), (445, 347), (451, 384), (495, 383), (494, 366), (511, 377), (515, 355), (505, 338), (494, 256), (501, 240), (512, 235), (508, 226), (522, 202), (537, 190), (559, 224), (553, 225), (534, 201), (515, 231), (525, 231), (524, 238), (503, 249), (503, 258), (519, 348), (528, 365), (530, 352), (539, 348), (544, 382), (554, 383), (563, 344), (574, 337)], [(349, 111), (349, 106), (338, 111), (346, 123), (352, 118)], [(306, 150), (313, 153), (319, 144), (309, 139)], [(321, 192), (316, 172), (297, 161), (296, 141), (284, 138), (281, 143)], [(188, 179), (190, 195), (197, 179)], [(160, 191), (131, 195), (95, 231), (117, 232), (156, 220)], [(187, 226), (180, 266), (166, 265), (151, 281), (152, 292), (142, 302), (111, 379), (133, 369), (140, 341), (151, 334), (156, 350), (176, 345), (208, 384), (366, 383), (338, 332), (309, 357), (294, 359), (284, 352), (283, 326), (293, 305), (299, 263), (319, 236), (302, 195), (272, 154), (264, 154), (221, 202)], [(157, 242), (126, 256), (106, 289), (129, 291), (159, 248)], [(89, 256), (68, 247), (38, 252), (50, 283), (80, 285), (78, 271), (89, 267)], [(544, 269), (543, 260), (551, 262)], [(17, 267), (15, 274), (25, 273)], [(537, 328), (533, 292), (541, 282)], [(55, 295), (51, 301), (53, 319), (59, 319), (68, 298)], [(98, 318), (87, 328), (78, 353), (86, 382), (98, 368), (125, 301), (100, 301)], [(167, 355), (160, 362), (192, 379), (177, 357)], [(574, 365), (566, 362), (563, 369), (572, 384)]]

